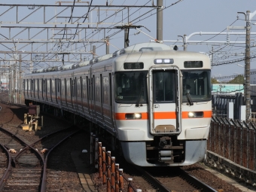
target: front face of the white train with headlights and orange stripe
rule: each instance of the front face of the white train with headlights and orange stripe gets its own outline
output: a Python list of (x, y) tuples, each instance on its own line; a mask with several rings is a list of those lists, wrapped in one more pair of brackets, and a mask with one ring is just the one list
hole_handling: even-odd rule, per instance
[(163, 44), (141, 46), (121, 50), (126, 54), (114, 62), (115, 123), (124, 157), (138, 166), (200, 162), (212, 117), (209, 57)]

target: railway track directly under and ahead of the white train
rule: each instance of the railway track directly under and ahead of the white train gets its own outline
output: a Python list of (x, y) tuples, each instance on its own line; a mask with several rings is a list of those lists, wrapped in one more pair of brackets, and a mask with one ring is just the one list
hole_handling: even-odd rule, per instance
[[(99, 137), (99, 140), (108, 143), (104, 138)], [(109, 143), (106, 145), (108, 148), (111, 148)], [(191, 192), (217, 192), (211, 186), (203, 183), (199, 179), (195, 178), (193, 175), (190, 175), (183, 169), (179, 167), (168, 167), (168, 166), (157, 166), (157, 167), (141, 167), (134, 166), (130, 163), (126, 163), (125, 160), (120, 156), (119, 152), (116, 151), (113, 154), (117, 157), (117, 162), (122, 163), (122, 168), (129, 170), (128, 173), (130, 177), (135, 177), (136, 180), (139, 180), (139, 183), (144, 186), (147, 186), (148, 191), (157, 191), (157, 192), (178, 192), (178, 191), (191, 191)], [(119, 159), (119, 161), (118, 161)], [(138, 181), (137, 181), (138, 182)], [(147, 182), (148, 184), (144, 184)], [(151, 186), (151, 187), (149, 187)]]

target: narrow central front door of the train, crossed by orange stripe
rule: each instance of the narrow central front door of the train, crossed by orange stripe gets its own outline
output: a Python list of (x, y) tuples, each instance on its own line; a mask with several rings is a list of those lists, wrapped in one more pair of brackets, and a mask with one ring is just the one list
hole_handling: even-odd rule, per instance
[(179, 70), (154, 67), (149, 71), (152, 134), (180, 133)]

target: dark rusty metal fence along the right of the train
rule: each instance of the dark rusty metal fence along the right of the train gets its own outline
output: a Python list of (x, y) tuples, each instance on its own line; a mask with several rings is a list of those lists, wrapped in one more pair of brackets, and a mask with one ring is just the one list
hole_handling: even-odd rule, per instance
[(256, 170), (256, 128), (253, 123), (212, 117), (207, 145), (209, 151)]

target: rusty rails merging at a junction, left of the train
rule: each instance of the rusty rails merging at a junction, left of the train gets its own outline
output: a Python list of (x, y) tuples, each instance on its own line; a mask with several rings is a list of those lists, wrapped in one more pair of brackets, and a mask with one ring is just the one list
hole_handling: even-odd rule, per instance
[[(47, 161), (50, 152), (78, 129), (59, 130), (27, 144), (22, 139), (0, 127), (2, 138), (0, 157), (0, 190), (1, 191), (46, 191), (53, 188), (51, 180), (47, 181)], [(58, 175), (48, 173), (48, 178)], [(56, 185), (54, 190), (57, 190)]]

